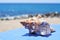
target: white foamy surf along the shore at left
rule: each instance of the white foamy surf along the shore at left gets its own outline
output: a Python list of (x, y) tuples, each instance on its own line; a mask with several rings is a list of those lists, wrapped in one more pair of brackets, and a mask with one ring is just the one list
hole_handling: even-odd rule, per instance
[(13, 20), (13, 19), (26, 19), (28, 18), (28, 15), (24, 14), (24, 15), (16, 15), (16, 16), (9, 16), (9, 15), (6, 15), (5, 17), (1, 17), (0, 19), (2, 20)]

